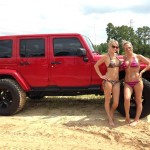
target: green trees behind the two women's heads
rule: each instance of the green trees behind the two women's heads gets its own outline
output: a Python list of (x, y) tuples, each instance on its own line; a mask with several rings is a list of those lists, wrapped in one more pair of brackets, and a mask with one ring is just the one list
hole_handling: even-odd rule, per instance
[[(107, 42), (110, 39), (115, 39), (119, 42), (120, 54), (124, 54), (122, 40), (127, 40), (132, 43), (135, 53), (150, 57), (150, 27), (143, 26), (134, 31), (133, 27), (125, 25), (114, 26), (112, 23), (108, 23), (106, 33)], [(101, 54), (107, 52), (107, 43), (94, 46)]]

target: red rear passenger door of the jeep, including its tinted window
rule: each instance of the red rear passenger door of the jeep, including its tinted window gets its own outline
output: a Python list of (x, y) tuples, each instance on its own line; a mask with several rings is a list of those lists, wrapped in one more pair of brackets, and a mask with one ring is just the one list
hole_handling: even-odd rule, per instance
[(48, 58), (45, 36), (25, 36), (18, 39), (18, 70), (31, 87), (48, 85)]

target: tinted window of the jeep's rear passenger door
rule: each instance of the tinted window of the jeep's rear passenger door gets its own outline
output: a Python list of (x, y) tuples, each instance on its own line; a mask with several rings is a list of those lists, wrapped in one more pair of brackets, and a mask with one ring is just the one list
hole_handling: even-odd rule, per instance
[(44, 39), (22, 39), (20, 40), (21, 57), (44, 57), (45, 40)]

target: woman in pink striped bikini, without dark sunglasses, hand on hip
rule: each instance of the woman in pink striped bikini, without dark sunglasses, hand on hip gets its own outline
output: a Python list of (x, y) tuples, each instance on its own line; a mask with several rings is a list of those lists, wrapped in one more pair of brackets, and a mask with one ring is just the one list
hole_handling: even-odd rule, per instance
[[(124, 62), (122, 66), (125, 69), (124, 107), (126, 114), (126, 122), (131, 126), (135, 126), (138, 123), (142, 112), (142, 74), (150, 68), (150, 61), (140, 54), (133, 53), (133, 46), (130, 42), (123, 41), (122, 45), (125, 51)], [(141, 71), (140, 62), (147, 64), (147, 66)], [(130, 99), (133, 91), (135, 93), (137, 110), (134, 121), (130, 122), (129, 109)]]

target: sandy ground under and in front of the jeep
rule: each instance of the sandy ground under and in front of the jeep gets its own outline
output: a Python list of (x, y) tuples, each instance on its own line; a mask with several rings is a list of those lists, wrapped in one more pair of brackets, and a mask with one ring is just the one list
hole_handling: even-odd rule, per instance
[(2, 150), (149, 150), (150, 115), (136, 127), (115, 112), (115, 127), (99, 99), (28, 100), (23, 111), (0, 117)]

